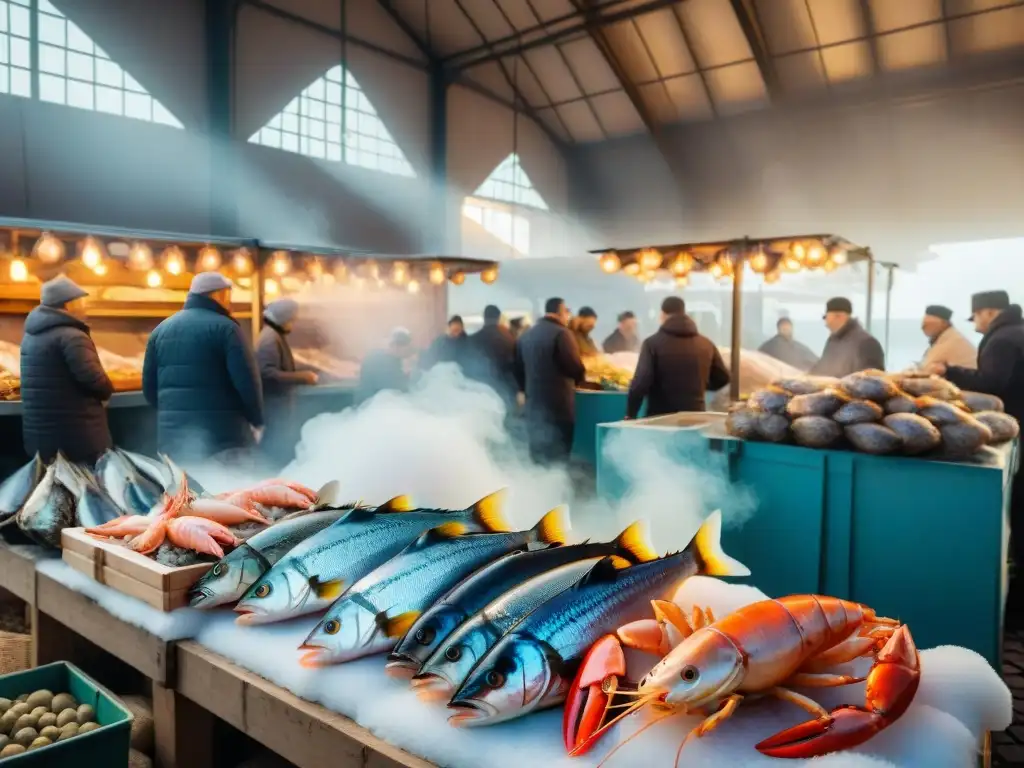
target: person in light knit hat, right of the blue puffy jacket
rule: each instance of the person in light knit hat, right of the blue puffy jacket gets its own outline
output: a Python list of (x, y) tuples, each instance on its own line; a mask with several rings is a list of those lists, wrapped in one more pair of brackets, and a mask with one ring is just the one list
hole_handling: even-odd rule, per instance
[(263, 384), (263, 410), (266, 428), (260, 440), (263, 453), (273, 461), (287, 464), (295, 455), (300, 424), (296, 423), (295, 387), (315, 384), (312, 371), (295, 368), (288, 334), (299, 313), (294, 299), (279, 299), (263, 309), (263, 330), (256, 342), (256, 362)]

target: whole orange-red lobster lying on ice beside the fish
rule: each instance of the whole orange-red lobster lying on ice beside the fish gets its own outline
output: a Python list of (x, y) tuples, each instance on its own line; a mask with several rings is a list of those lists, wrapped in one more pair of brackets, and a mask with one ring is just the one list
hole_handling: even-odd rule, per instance
[[(769, 736), (758, 751), (776, 758), (817, 757), (871, 738), (906, 712), (918, 692), (921, 659), (909, 630), (859, 603), (793, 595), (752, 603), (719, 621), (694, 606), (690, 622), (675, 603), (655, 600), (652, 605), (653, 620), (628, 624), (588, 651), (562, 719), (569, 755), (584, 754), (614, 723), (648, 702), (670, 713), (707, 715), (688, 740), (721, 725), (744, 697), (774, 696), (814, 718)], [(626, 674), (624, 644), (664, 656), (632, 690), (620, 687)], [(874, 665), (866, 678), (827, 672), (871, 654)], [(864, 707), (831, 712), (790, 689), (864, 680)], [(614, 708), (616, 695), (634, 700), (625, 710)]]

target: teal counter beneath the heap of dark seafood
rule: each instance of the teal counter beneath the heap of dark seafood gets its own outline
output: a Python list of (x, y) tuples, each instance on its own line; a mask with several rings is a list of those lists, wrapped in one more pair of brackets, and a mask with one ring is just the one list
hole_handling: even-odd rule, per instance
[[(708, 472), (702, 502), (723, 510), (723, 546), (766, 594), (856, 600), (906, 622), (919, 647), (963, 645), (999, 669), (1016, 441), (939, 462), (744, 442), (722, 417), (694, 428), (679, 425), (686, 416), (598, 427), (598, 493), (630, 492), (605, 441), (653, 444)], [(750, 493), (753, 516), (730, 528)]]

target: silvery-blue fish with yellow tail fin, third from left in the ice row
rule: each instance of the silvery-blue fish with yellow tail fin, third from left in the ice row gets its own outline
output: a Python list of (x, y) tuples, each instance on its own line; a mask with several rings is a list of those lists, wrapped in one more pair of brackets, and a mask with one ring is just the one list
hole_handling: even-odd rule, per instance
[(350, 662), (394, 647), (413, 623), (453, 585), (496, 558), (530, 545), (561, 544), (567, 525), (562, 507), (529, 530), (462, 534), (461, 523), (431, 528), (356, 582), (331, 606), (300, 646), (302, 664)]

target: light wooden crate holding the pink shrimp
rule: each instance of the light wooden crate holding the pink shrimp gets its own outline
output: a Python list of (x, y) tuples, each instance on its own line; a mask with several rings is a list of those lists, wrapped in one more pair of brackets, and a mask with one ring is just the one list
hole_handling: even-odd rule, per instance
[(75, 570), (159, 610), (187, 605), (188, 589), (210, 569), (209, 563), (162, 565), (120, 542), (94, 539), (83, 528), (65, 528), (60, 545), (65, 562)]

